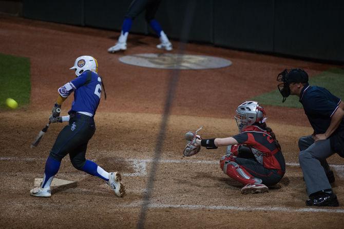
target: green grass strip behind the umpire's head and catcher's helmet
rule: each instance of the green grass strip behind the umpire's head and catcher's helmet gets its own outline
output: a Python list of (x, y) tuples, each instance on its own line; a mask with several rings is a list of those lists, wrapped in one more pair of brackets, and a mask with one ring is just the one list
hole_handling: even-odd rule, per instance
[[(309, 80), (311, 86), (324, 87), (335, 96), (344, 100), (344, 70), (332, 68), (320, 74), (313, 76)], [(276, 81), (276, 88), (279, 82)], [(285, 102), (282, 103), (282, 95), (276, 89), (275, 91), (261, 94), (250, 100), (259, 101), (262, 105), (272, 105), (279, 107), (302, 108), (299, 97), (290, 95)]]

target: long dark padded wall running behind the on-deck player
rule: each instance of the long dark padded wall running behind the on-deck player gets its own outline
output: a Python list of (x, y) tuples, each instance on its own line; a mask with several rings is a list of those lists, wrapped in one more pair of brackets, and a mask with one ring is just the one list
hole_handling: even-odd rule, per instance
[[(196, 1), (195, 9), (188, 9)], [(23, 0), (27, 18), (120, 31), (131, 0)], [(188, 40), (216, 46), (344, 63), (344, 1), (162, 0), (156, 14), (165, 33), (180, 39), (187, 13)], [(144, 13), (132, 33), (151, 34)]]

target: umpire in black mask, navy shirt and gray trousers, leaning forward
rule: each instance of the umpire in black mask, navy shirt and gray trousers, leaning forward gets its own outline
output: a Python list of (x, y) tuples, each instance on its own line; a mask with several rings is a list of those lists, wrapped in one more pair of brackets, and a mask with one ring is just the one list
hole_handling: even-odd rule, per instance
[(302, 69), (284, 70), (277, 76), (283, 102), (289, 95), (298, 95), (304, 113), (314, 130), (299, 139), (299, 162), (309, 199), (306, 205), (338, 206), (331, 184), (334, 182), (326, 158), (334, 153), (344, 157), (344, 102), (327, 89), (310, 86)]

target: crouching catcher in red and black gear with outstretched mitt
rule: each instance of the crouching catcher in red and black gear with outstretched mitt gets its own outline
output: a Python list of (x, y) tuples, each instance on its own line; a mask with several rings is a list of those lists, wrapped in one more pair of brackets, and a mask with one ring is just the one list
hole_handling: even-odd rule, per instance
[(227, 154), (220, 160), (221, 170), (244, 186), (242, 194), (268, 192), (268, 186), (277, 184), (285, 173), (281, 147), (271, 128), (266, 126), (264, 109), (256, 101), (246, 101), (236, 110), (235, 120), (239, 134), (227, 138), (202, 139), (187, 132), (189, 142), (184, 156), (198, 153), (201, 147), (217, 149), (227, 146)]

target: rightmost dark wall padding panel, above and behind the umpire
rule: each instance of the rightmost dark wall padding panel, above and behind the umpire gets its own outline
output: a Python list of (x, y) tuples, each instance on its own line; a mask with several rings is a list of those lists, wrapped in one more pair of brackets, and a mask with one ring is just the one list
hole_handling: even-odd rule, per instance
[(275, 0), (274, 52), (344, 61), (344, 1)]

